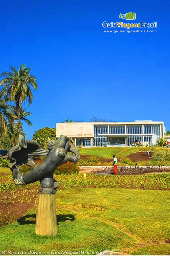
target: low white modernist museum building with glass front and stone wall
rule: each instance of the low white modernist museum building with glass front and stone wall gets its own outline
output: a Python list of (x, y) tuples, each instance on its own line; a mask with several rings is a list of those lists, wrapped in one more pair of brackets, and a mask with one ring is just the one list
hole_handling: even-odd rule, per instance
[(56, 138), (65, 134), (80, 147), (130, 147), (135, 141), (140, 141), (143, 146), (153, 146), (164, 133), (164, 122), (152, 120), (56, 124)]

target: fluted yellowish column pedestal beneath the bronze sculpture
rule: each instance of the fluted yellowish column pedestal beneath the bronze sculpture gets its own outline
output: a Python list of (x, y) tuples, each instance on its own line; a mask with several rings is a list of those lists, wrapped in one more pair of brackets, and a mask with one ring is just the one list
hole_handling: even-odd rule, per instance
[(35, 233), (40, 236), (56, 236), (55, 189), (41, 188), (38, 195)]

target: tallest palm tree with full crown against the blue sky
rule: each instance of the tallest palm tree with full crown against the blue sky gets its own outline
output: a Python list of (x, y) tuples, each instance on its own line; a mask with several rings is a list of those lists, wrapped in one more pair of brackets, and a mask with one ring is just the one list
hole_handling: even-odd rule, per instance
[(3, 72), (0, 81), (0, 85), (3, 86), (3, 91), (7, 92), (9, 99), (15, 102), (17, 119), (18, 119), (18, 134), (21, 132), (21, 116), (22, 116), (22, 103), (28, 100), (29, 106), (33, 101), (33, 93), (31, 87), (37, 90), (37, 79), (30, 74), (31, 68), (26, 68), (25, 64), (22, 64), (18, 71), (15, 67), (10, 67), (10, 72)]

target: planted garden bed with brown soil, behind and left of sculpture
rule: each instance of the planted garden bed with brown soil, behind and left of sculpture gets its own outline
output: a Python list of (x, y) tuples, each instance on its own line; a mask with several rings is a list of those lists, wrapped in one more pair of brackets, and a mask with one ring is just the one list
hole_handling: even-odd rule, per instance
[[(11, 175), (1, 175), (0, 225), (4, 226), (22, 217), (30, 208), (36, 207), (40, 182), (16, 186)], [(152, 175), (54, 175), (59, 183), (57, 190), (75, 188), (135, 188), (169, 190), (170, 173)]]

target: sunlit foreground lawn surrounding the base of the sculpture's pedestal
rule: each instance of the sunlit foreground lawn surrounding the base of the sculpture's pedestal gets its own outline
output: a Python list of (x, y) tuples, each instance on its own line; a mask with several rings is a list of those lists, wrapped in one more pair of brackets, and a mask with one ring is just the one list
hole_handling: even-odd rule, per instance
[[(169, 191), (73, 189), (58, 191), (57, 237), (34, 234), (35, 212), (1, 227), (0, 251), (113, 250), (129, 254), (170, 253)], [(95, 254), (94, 253), (94, 254)], [(64, 252), (62, 254), (65, 254)]]

